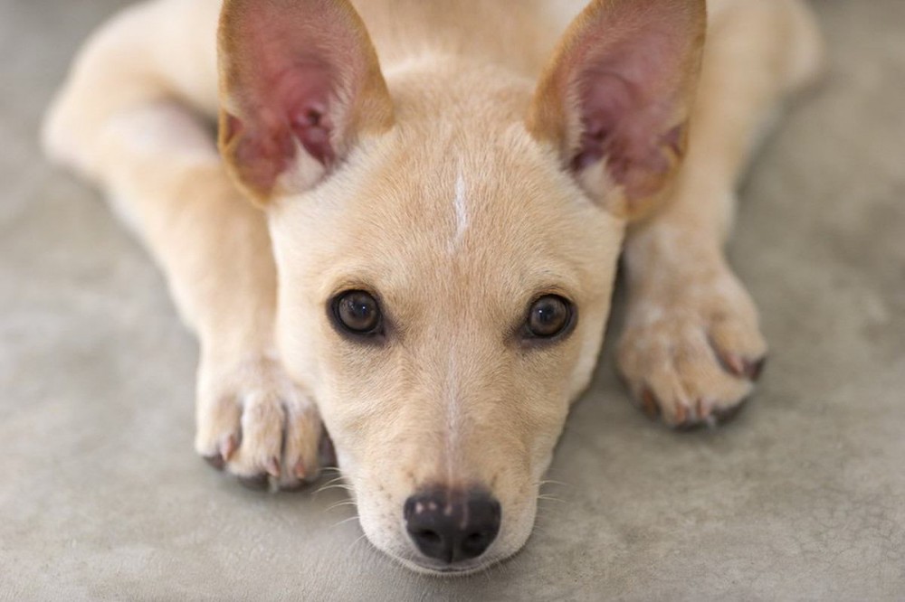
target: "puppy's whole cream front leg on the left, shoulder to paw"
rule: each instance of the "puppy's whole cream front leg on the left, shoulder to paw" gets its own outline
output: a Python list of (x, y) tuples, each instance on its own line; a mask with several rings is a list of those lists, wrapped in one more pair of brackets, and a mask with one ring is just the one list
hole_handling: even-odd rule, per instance
[[(176, 100), (192, 96), (181, 81), (210, 80), (213, 67), (213, 57), (180, 54), (192, 49), (191, 9), (150, 3), (107, 24), (54, 103), (44, 144), (110, 194), (199, 337), (198, 453), (245, 484), (291, 488), (317, 475), (319, 413), (274, 352), (276, 269), (265, 216), (227, 177), (197, 108)], [(215, 9), (195, 18), (197, 29), (213, 27)], [(183, 29), (185, 39), (161, 37)], [(161, 52), (174, 60), (161, 61)], [(188, 75), (174, 76), (177, 69)]]

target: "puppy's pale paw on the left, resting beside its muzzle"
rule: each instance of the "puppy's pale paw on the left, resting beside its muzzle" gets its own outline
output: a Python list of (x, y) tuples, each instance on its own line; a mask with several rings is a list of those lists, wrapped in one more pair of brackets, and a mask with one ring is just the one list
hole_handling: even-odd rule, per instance
[(195, 450), (242, 484), (291, 490), (319, 475), (318, 409), (279, 362), (202, 362), (196, 412)]

